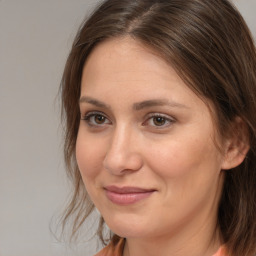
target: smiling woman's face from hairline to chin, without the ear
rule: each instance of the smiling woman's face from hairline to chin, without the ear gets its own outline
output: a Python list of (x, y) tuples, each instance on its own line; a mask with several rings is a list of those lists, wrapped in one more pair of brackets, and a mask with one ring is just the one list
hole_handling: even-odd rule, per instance
[(84, 66), (80, 109), (78, 166), (113, 232), (216, 224), (224, 157), (208, 107), (170, 65), (131, 38), (105, 41)]

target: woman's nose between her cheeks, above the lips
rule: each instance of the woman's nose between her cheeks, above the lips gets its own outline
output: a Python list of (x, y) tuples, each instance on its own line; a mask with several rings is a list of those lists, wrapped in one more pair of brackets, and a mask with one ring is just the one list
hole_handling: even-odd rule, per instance
[(136, 137), (124, 127), (113, 132), (103, 161), (103, 166), (108, 172), (113, 175), (124, 175), (140, 170), (143, 159)]

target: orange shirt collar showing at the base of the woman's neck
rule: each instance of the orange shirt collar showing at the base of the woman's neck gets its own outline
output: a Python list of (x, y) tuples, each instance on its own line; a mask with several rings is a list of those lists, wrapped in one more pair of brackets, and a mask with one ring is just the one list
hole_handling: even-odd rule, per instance
[[(122, 256), (124, 241), (124, 239), (120, 239), (116, 246), (114, 246), (111, 242), (108, 246), (103, 248), (95, 256)], [(220, 249), (213, 256), (226, 256), (224, 247), (220, 247)]]

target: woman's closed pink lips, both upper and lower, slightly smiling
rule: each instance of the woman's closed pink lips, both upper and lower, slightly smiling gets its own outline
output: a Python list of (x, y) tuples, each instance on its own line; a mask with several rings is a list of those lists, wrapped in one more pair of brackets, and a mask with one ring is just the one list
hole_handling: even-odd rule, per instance
[(107, 198), (114, 204), (130, 205), (150, 197), (156, 190), (139, 187), (104, 187)]

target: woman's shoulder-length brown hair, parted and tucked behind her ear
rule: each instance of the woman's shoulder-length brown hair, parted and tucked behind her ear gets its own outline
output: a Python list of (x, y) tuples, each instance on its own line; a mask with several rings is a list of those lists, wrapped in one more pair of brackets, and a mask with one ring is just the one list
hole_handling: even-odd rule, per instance
[(75, 216), (76, 233), (94, 208), (75, 158), (83, 66), (99, 42), (127, 35), (155, 49), (213, 103), (222, 136), (235, 117), (246, 124), (250, 150), (240, 166), (226, 171), (218, 226), (232, 256), (255, 256), (256, 52), (245, 21), (228, 0), (107, 0), (82, 24), (61, 82), (65, 161), (75, 188), (64, 225)]

